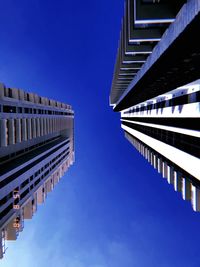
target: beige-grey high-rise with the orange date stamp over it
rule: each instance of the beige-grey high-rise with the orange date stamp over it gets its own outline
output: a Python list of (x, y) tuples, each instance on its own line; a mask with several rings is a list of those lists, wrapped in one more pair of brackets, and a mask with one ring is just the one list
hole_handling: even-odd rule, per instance
[(70, 105), (0, 84), (0, 258), (74, 161)]

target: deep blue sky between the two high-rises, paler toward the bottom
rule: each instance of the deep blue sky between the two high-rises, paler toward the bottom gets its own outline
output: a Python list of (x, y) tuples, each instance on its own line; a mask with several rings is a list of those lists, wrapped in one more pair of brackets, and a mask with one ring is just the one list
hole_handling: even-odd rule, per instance
[(69, 103), (76, 161), (3, 267), (199, 267), (200, 214), (109, 107), (123, 0), (0, 1), (0, 81)]

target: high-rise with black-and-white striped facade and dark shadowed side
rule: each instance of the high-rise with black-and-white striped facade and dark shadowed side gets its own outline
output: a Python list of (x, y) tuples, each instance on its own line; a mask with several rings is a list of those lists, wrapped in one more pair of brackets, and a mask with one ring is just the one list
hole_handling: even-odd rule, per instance
[(110, 105), (125, 137), (200, 210), (200, 1), (127, 0)]

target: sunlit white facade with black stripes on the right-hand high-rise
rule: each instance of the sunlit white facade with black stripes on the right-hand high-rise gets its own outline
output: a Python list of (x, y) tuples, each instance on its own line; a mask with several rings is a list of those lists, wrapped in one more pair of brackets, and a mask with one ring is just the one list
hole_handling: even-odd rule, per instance
[[(127, 139), (195, 211), (200, 211), (199, 93), (197, 80), (121, 111)], [(173, 105), (182, 99), (185, 103)]]

